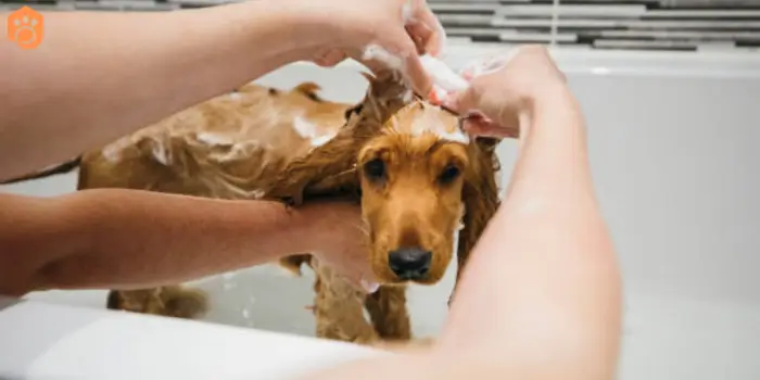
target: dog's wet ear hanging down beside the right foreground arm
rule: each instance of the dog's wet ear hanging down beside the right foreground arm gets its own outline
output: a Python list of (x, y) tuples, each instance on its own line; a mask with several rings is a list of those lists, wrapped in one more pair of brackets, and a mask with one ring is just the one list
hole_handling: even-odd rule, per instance
[[(497, 143), (498, 141), (496, 141)], [(480, 239), (489, 220), (496, 214), (499, 205), (496, 174), (499, 170), (498, 157), (493, 139), (470, 145), (470, 169), (465, 174), (461, 191), (465, 215), (465, 228), (459, 231), (457, 243), (457, 283), (467, 266), (470, 251)], [(456, 291), (456, 284), (455, 284)], [(454, 296), (454, 295), (452, 295)], [(448, 300), (449, 304), (452, 299)]]

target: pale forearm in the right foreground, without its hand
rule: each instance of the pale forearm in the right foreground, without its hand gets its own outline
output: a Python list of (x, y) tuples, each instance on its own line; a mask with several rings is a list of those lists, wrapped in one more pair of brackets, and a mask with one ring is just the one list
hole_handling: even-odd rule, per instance
[(494, 355), (510, 373), (608, 379), (620, 280), (584, 122), (567, 90), (533, 104), (506, 201), (470, 256), (442, 349)]

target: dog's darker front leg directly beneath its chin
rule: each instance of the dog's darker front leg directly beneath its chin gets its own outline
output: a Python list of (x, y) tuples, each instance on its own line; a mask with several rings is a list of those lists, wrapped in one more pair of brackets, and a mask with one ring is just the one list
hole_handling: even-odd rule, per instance
[(411, 339), (406, 287), (380, 287), (377, 292), (367, 295), (365, 307), (380, 338), (387, 341)]

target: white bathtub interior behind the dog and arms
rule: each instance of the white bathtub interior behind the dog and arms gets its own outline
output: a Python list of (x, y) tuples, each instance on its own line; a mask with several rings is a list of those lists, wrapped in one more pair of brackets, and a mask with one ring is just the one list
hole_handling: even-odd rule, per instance
[[(456, 66), (482, 49), (452, 49), (449, 61)], [(560, 51), (556, 58), (586, 114), (597, 194), (623, 268), (620, 379), (760, 379), (760, 153), (752, 153), (760, 141), (760, 55)], [(366, 88), (356, 69), (294, 64), (261, 83), (313, 80), (327, 98), (356, 101)], [(505, 180), (515, 154), (512, 142), (502, 144)], [(65, 175), (0, 191), (54, 195), (74, 185), (75, 176)], [(442, 326), (449, 269), (440, 284), (410, 291), (417, 335)], [(294, 279), (257, 267), (198, 284), (212, 295), (210, 322), (311, 335), (314, 321), (304, 308), (311, 281), (311, 274)], [(102, 308), (104, 294), (28, 299)]]

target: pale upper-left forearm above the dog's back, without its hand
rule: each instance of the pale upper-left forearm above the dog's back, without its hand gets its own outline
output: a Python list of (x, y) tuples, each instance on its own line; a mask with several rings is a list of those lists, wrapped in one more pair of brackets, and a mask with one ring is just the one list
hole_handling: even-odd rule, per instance
[(0, 179), (307, 59), (319, 35), (287, 5), (256, 0), (160, 14), (45, 14), (37, 49), (0, 43)]

